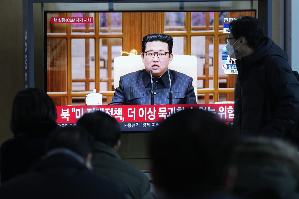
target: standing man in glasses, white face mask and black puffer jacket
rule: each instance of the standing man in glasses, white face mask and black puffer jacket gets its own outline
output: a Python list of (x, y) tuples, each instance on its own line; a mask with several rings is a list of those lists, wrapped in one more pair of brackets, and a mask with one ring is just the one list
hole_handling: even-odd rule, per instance
[(272, 39), (263, 37), (263, 25), (254, 17), (231, 21), (229, 29), (226, 49), (230, 58), (237, 58), (239, 72), (235, 130), (242, 136), (288, 137), (295, 132), (299, 118), (299, 82), (287, 63), (287, 54)]

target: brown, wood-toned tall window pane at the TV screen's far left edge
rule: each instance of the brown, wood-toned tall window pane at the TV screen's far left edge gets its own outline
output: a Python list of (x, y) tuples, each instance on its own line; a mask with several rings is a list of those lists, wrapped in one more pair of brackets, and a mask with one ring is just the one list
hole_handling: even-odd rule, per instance
[(66, 39), (47, 39), (47, 92), (66, 91)]

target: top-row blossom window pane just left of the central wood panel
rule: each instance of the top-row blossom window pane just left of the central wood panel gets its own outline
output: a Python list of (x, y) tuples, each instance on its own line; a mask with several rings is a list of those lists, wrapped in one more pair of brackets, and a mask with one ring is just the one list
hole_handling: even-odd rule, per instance
[(121, 12), (100, 12), (100, 33), (121, 33), (122, 13)]

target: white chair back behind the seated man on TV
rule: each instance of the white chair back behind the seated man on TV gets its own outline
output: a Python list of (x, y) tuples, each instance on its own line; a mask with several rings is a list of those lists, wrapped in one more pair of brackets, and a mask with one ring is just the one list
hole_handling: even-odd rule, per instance
[[(144, 69), (141, 55), (119, 56), (114, 58), (114, 88), (119, 86), (121, 76)], [(192, 86), (197, 97), (197, 58), (191, 55), (173, 55), (170, 70), (184, 73), (193, 78)]]

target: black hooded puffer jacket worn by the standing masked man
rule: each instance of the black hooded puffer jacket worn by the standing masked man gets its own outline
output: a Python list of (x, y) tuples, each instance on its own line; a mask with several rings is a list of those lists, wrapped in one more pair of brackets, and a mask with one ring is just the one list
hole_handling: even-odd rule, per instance
[[(265, 38), (254, 53), (236, 60), (239, 74), (235, 84), (233, 125), (241, 136), (284, 138), (294, 131), (299, 118), (299, 82), (287, 59), (287, 54), (272, 39)], [(258, 75), (262, 65), (267, 69), (265, 78), (274, 101), (270, 122), (266, 122), (267, 94)]]

